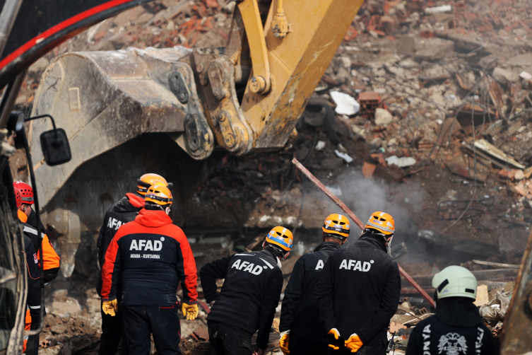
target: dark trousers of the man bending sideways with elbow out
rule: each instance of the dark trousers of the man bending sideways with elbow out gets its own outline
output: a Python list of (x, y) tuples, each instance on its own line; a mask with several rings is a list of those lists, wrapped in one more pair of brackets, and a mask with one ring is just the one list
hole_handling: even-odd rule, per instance
[(252, 333), (221, 322), (208, 322), (211, 355), (250, 355)]

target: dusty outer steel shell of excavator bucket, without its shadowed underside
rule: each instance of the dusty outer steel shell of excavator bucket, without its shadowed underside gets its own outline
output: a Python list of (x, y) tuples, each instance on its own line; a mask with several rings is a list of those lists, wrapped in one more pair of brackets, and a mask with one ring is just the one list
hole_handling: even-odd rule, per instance
[[(195, 159), (211, 155), (213, 132), (201, 110), (194, 73), (178, 62), (189, 52), (184, 47), (131, 48), (54, 59), (43, 74), (32, 115), (52, 115), (75, 153), (72, 161), (54, 169), (43, 164), (40, 149), (32, 151), (43, 206), (83, 161), (143, 133), (171, 134)], [(49, 119), (35, 122), (31, 146), (39, 146), (40, 132), (51, 128)]]

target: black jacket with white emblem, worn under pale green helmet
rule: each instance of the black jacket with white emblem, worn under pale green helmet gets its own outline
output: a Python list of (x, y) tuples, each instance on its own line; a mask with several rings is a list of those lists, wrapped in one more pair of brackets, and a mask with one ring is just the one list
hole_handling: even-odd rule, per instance
[(436, 314), (415, 326), (407, 355), (492, 355), (498, 351), (472, 298), (449, 297), (436, 302)]

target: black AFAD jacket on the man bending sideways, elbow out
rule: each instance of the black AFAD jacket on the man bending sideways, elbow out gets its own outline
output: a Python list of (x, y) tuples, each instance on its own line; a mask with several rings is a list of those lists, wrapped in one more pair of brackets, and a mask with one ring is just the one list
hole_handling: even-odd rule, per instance
[[(266, 349), (273, 315), (283, 289), (283, 273), (272, 252), (246, 252), (206, 264), (199, 272), (207, 302), (216, 301), (208, 321), (257, 334), (256, 344)], [(225, 279), (220, 294), (216, 279)]]

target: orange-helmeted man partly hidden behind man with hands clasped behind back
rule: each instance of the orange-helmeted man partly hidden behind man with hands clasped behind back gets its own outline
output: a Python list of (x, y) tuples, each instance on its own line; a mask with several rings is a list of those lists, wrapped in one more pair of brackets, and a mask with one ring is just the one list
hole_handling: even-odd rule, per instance
[(285, 289), (279, 325), (279, 347), (285, 355), (321, 355), (329, 349), (314, 289), (325, 262), (348, 238), (349, 220), (341, 214), (330, 214), (321, 230), (323, 243), (297, 260)]

